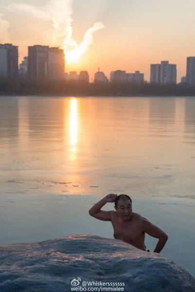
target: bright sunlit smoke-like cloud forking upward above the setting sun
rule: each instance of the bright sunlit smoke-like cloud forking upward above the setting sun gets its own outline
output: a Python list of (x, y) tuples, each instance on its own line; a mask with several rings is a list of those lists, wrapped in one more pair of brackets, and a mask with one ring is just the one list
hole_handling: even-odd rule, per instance
[(72, 38), (72, 4), (74, 0), (49, 0), (43, 7), (24, 3), (12, 3), (11, 8), (30, 13), (33, 17), (52, 21), (51, 42), (65, 50), (66, 59), (71, 63), (84, 54), (93, 43), (93, 34), (104, 28), (96, 22), (87, 30), (80, 45)]

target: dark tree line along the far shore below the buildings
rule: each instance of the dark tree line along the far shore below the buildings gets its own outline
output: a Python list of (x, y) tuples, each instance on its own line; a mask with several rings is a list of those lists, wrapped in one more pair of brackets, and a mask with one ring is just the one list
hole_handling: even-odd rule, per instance
[(195, 95), (195, 86), (186, 83), (85, 83), (80, 80), (41, 81), (0, 79), (0, 95)]

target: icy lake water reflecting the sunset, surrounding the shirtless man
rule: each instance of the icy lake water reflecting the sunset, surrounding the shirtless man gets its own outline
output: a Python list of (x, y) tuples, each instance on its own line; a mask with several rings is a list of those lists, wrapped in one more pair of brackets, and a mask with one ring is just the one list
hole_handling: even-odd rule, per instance
[(0, 96), (0, 244), (113, 238), (88, 214), (109, 193), (131, 196), (195, 276), (195, 97)]

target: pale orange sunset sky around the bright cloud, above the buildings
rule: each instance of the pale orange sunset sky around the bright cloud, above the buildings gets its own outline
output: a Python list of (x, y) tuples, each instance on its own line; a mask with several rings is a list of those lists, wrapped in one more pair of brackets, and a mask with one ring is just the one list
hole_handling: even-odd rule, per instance
[[(194, 1), (162, 3), (150, 0), (144, 3), (139, 0), (134, 3), (124, 0), (123, 5), (115, 0), (99, 0), (98, 3), (95, 0), (55, 1), (56, 5), (61, 2), (69, 5), (72, 38), (77, 44), (83, 42), (86, 32), (95, 23), (99, 23), (87, 51), (76, 63), (66, 62), (66, 72), (87, 70), (91, 80), (98, 67), (108, 77), (111, 71), (119, 69), (140, 71), (149, 81), (150, 64), (169, 60), (170, 64), (177, 64), (177, 83), (186, 75), (186, 58), (195, 55)], [(45, 7), (52, 3), (1, 0), (0, 42), (18, 46), (19, 63), (28, 55), (28, 46), (62, 46), (58, 37), (60, 31), (56, 33), (46, 15)]]

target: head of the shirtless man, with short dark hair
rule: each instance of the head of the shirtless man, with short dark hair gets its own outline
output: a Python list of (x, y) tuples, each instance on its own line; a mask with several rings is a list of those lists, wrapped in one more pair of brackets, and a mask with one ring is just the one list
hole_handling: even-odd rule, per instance
[(119, 195), (114, 201), (114, 208), (117, 211), (117, 214), (124, 220), (127, 220), (131, 217), (132, 211), (132, 200), (128, 195)]

